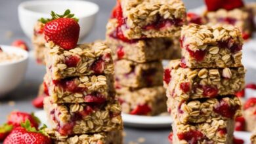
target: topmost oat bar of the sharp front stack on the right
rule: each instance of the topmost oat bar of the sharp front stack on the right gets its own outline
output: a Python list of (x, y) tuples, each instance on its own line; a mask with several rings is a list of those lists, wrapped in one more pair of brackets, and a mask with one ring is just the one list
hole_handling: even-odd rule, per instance
[(238, 28), (190, 24), (181, 31), (182, 65), (190, 68), (242, 66)]

